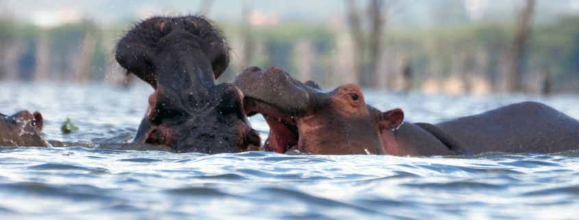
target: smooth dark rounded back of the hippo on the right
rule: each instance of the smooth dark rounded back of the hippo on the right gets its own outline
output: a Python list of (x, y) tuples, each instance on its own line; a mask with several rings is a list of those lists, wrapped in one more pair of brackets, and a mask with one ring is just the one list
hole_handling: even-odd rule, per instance
[[(436, 123), (464, 151), (553, 153), (579, 149), (579, 121), (542, 103), (525, 101)], [(434, 134), (435, 132), (433, 132)]]

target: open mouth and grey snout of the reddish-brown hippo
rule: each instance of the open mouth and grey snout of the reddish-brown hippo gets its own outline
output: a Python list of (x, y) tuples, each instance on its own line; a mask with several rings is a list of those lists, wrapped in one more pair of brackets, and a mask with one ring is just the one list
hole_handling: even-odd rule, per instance
[(251, 67), (236, 77), (234, 85), (245, 95), (245, 114), (262, 114), (269, 125), (265, 150), (281, 154), (293, 150), (307, 152), (304, 141), (300, 141), (303, 119), (316, 110), (316, 103), (323, 103), (323, 98), (328, 97), (317, 84), (293, 80), (278, 67), (267, 71)]

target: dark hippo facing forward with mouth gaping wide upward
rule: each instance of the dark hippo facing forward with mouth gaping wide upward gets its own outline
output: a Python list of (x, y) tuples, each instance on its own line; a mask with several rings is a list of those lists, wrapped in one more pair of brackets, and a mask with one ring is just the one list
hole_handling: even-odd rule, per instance
[(155, 16), (130, 29), (116, 44), (116, 61), (154, 89), (133, 142), (206, 154), (259, 149), (243, 93), (215, 83), (229, 52), (219, 29), (202, 16)]

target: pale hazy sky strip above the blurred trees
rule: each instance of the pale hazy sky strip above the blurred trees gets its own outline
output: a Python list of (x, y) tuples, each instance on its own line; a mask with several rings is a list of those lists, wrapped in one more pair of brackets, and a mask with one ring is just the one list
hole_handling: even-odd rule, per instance
[[(515, 5), (521, 2), (521, 0), (385, 1), (393, 5), (389, 7), (389, 12), (393, 14), (389, 19), (391, 26), (419, 27), (457, 21), (509, 21), (514, 17)], [(41, 27), (75, 22), (83, 17), (103, 25), (125, 27), (127, 23), (152, 15), (196, 13), (206, 2), (212, 2), (206, 15), (213, 20), (237, 21), (242, 18), (245, 9), (250, 9), (253, 16), (267, 20), (266, 25), (275, 24), (276, 21), (325, 22), (335, 18), (345, 20), (346, 12), (345, 0), (0, 0), (0, 7), (10, 12), (18, 21)], [(366, 5), (367, 0), (357, 2), (360, 9), (365, 9), (363, 5)], [(548, 22), (568, 15), (579, 16), (579, 0), (538, 0), (537, 22)]]

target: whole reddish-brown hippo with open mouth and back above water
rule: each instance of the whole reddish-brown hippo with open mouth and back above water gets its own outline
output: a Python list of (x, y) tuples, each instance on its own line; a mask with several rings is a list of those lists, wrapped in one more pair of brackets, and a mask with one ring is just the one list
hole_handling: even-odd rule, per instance
[(267, 151), (433, 156), (579, 149), (579, 121), (541, 103), (432, 125), (403, 123), (399, 108), (380, 112), (354, 84), (324, 93), (314, 82), (298, 82), (275, 67), (246, 69), (234, 84), (245, 95), (245, 112), (262, 114), (270, 127)]

